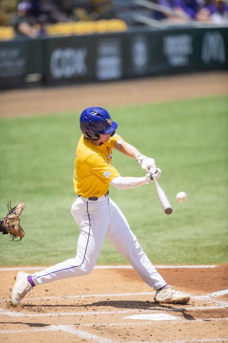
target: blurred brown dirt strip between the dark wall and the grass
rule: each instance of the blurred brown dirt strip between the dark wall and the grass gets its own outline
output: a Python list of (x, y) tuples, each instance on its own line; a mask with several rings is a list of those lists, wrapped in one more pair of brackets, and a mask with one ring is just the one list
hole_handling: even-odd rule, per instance
[(88, 106), (109, 107), (228, 94), (228, 72), (140, 78), (0, 93), (0, 118), (62, 113)]

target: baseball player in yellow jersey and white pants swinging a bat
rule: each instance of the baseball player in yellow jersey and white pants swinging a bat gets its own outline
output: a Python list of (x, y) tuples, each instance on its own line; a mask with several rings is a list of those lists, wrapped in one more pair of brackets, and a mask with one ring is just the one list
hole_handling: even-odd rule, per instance
[[(71, 208), (71, 214), (80, 228), (77, 255), (32, 275), (18, 272), (11, 291), (14, 307), (28, 292), (31, 294), (35, 286), (91, 273), (105, 237), (128, 259), (142, 279), (156, 290), (154, 300), (157, 303), (187, 303), (190, 300), (188, 295), (166, 284), (140, 247), (123, 213), (108, 196), (109, 184), (118, 189), (135, 188), (152, 182), (151, 175), (159, 178), (161, 174), (153, 158), (142, 155), (115, 133), (117, 126), (104, 108), (89, 107), (82, 112), (82, 135), (75, 154), (73, 174), (77, 198)], [(147, 171), (146, 176), (120, 176), (111, 164), (114, 149), (135, 158)]]

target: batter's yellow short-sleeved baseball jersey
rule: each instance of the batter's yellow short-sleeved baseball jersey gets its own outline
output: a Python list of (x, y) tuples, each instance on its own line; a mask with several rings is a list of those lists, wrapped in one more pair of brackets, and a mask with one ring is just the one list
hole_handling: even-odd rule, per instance
[(120, 175), (111, 165), (112, 148), (120, 138), (115, 134), (108, 142), (96, 146), (81, 135), (75, 154), (73, 174), (73, 186), (77, 194), (89, 198), (101, 197), (107, 193), (109, 182)]

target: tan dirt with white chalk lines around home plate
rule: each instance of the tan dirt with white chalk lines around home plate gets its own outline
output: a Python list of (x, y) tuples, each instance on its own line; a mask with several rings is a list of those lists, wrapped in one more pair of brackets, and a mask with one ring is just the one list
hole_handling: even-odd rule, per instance
[[(32, 273), (33, 268), (25, 269)], [(9, 288), (17, 271), (2, 268), (0, 341), (228, 341), (228, 264), (213, 268), (163, 266), (158, 271), (169, 284), (191, 294), (187, 305), (155, 304), (153, 289), (129, 267), (98, 267), (90, 275), (35, 287), (22, 305), (13, 308)]]

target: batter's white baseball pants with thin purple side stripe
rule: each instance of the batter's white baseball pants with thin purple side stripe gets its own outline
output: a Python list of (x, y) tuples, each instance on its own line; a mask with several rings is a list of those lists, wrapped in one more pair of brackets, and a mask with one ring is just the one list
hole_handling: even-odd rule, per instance
[(71, 213), (80, 228), (77, 255), (32, 274), (35, 285), (91, 273), (105, 237), (128, 259), (149, 286), (159, 289), (166, 284), (143, 252), (123, 213), (110, 198), (102, 196), (93, 201), (77, 197)]

